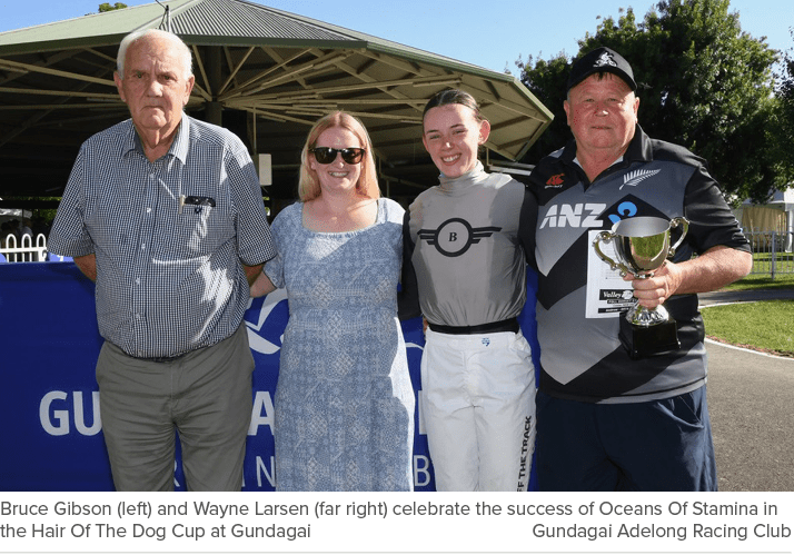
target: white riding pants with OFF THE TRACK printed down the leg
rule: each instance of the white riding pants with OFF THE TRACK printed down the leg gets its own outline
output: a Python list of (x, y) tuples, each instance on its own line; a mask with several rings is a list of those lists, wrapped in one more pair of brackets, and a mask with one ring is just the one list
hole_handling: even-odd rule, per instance
[(427, 329), (423, 419), (438, 492), (526, 490), (535, 448), (535, 369), (519, 333)]

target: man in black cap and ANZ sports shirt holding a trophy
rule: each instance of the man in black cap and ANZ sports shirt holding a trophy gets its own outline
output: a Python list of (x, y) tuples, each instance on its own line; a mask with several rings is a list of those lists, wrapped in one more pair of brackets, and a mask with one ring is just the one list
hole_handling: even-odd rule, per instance
[[(638, 126), (636, 89), (614, 50), (579, 58), (564, 102), (574, 140), (542, 159), (527, 187), (519, 235), (538, 272), (543, 490), (717, 488), (695, 294), (748, 274), (752, 255), (705, 161)], [(621, 279), (593, 241), (643, 216), (683, 216), (688, 232), (653, 277)], [(632, 295), (664, 303), (679, 347), (636, 357), (625, 339)]]

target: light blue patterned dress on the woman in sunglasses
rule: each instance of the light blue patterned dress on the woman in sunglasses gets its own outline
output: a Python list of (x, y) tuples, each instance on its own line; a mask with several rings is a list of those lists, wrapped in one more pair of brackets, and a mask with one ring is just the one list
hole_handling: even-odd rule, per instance
[(276, 388), (276, 489), (411, 490), (414, 389), (397, 319), (403, 208), (327, 234), (285, 208), (265, 272), (286, 287), (289, 323)]

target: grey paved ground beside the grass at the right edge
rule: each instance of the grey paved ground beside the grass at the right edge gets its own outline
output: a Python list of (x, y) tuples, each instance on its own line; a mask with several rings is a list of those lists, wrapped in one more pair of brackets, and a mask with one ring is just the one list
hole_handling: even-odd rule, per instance
[[(717, 291), (701, 305), (794, 298), (794, 291)], [(719, 489), (794, 492), (794, 358), (708, 341), (708, 410)]]

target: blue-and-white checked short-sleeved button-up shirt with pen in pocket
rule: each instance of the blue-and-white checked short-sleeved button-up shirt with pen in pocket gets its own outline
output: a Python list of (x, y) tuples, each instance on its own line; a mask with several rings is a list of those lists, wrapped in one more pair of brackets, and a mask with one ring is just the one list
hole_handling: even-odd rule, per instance
[(49, 248), (96, 254), (99, 331), (138, 358), (179, 356), (229, 337), (248, 306), (242, 264), (276, 255), (242, 141), (187, 115), (155, 162), (131, 120), (89, 138)]

